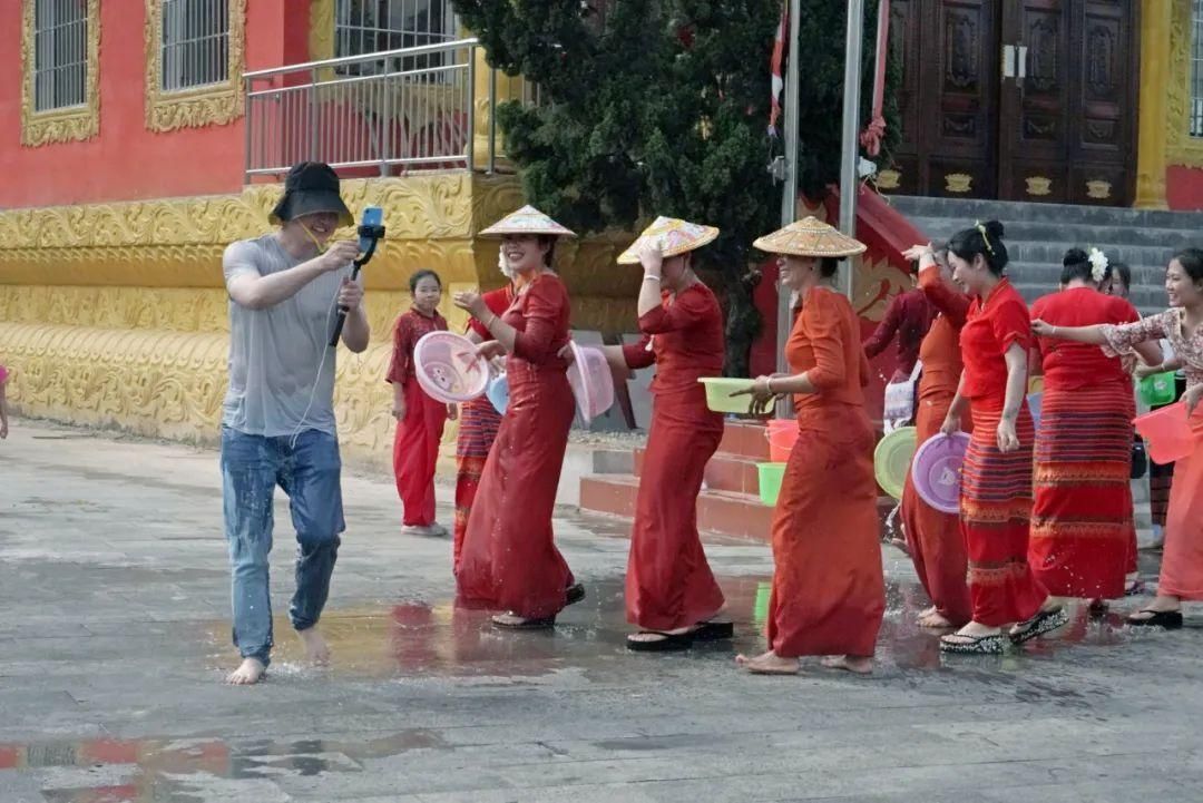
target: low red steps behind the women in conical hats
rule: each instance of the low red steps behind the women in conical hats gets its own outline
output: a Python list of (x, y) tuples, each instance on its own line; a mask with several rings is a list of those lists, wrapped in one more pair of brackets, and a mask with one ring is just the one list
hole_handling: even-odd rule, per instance
[[(634, 450), (634, 474), (581, 477), (581, 510), (634, 518), (644, 457), (644, 448)], [(760, 501), (757, 470), (757, 463), (768, 460), (769, 439), (764, 424), (728, 421), (718, 452), (706, 464), (706, 484), (698, 496), (698, 529), (704, 534), (768, 542), (774, 508)], [(895, 504), (885, 496), (879, 499), (878, 512), (883, 519)]]

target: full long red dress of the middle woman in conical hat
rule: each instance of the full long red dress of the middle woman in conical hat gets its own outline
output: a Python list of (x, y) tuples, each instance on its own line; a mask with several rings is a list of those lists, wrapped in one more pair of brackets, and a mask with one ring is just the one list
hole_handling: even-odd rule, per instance
[[(723, 314), (704, 284), (639, 319), (642, 343), (626, 346), (630, 368), (656, 363), (652, 423), (627, 560), (627, 621), (675, 630), (723, 606), (698, 536), (698, 493), (723, 439), (723, 416), (706, 408), (700, 376), (723, 373)], [(651, 351), (648, 351), (651, 344)]]

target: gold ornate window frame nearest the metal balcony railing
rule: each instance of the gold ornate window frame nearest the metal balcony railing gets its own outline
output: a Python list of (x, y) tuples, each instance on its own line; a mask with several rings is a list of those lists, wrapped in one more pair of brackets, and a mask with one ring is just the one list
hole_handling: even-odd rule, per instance
[(146, 0), (146, 115), (150, 131), (226, 125), (245, 105), (242, 71), (247, 49), (247, 0), (230, 0), (229, 78), (209, 87), (167, 91), (162, 87), (162, 2)]

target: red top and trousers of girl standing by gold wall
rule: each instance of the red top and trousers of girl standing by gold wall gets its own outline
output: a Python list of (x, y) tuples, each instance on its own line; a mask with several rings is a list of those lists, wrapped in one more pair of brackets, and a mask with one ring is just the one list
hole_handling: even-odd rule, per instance
[(427, 316), (410, 309), (392, 331), (392, 361), (386, 381), (401, 385), (405, 417), (397, 423), (392, 441), (392, 474), (404, 508), (405, 527), (434, 524), (434, 470), (439, 442), (448, 420), (448, 405), (432, 399), (414, 375), (414, 345), (428, 332), (445, 332), (448, 322), (438, 313)]

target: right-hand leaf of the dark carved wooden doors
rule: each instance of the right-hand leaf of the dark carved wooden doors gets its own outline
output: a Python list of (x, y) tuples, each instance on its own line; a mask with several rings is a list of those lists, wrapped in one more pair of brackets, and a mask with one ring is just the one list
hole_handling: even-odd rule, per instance
[[(1134, 0), (1003, 4), (998, 197), (1131, 202), (1139, 70), (1136, 6)], [(1014, 59), (1009, 66), (1008, 58)]]

